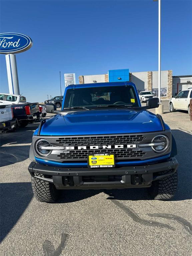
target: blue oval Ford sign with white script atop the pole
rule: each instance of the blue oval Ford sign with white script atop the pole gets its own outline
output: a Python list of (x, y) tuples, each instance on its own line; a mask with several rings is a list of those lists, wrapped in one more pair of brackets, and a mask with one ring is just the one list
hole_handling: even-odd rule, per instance
[(17, 33), (0, 34), (0, 53), (19, 53), (31, 48), (33, 42), (28, 36)]

